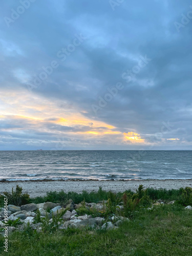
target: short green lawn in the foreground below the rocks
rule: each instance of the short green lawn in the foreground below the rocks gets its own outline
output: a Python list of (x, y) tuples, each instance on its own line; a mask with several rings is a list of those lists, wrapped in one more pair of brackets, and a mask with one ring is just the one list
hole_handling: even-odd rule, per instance
[(36, 233), (13, 232), (8, 253), (1, 255), (190, 255), (192, 251), (192, 211), (179, 205), (162, 205), (153, 210), (133, 212), (129, 223), (119, 229), (66, 230)]

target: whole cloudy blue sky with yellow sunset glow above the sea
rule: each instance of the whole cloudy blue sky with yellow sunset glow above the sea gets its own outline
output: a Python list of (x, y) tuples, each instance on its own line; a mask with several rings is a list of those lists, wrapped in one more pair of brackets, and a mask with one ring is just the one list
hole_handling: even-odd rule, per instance
[(9, 0), (0, 150), (192, 150), (191, 1)]

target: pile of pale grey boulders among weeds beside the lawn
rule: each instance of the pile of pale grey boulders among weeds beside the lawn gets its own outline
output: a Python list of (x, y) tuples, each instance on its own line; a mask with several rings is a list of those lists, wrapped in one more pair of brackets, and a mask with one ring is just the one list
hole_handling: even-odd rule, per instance
[[(34, 223), (35, 217), (37, 217), (37, 210), (40, 213), (40, 218), (49, 219), (49, 223), (53, 222), (53, 217), (58, 215), (61, 216), (61, 220), (59, 220), (59, 229), (68, 229), (68, 228), (96, 228), (96, 229), (114, 229), (118, 228), (118, 226), (123, 221), (129, 221), (128, 218), (123, 218), (121, 216), (108, 216), (108, 218), (101, 217), (92, 217), (91, 215), (79, 215), (78, 209), (82, 207), (82, 204), (74, 204), (74, 202), (70, 202), (65, 207), (62, 207), (59, 204), (55, 204), (52, 202), (40, 203), (40, 204), (26, 204), (22, 206), (9, 205), (8, 206), (8, 219), (11, 221), (18, 221), (18, 225), (16, 228), (9, 227), (9, 231), (13, 231), (15, 229), (24, 229), (26, 224), (29, 224), (33, 229), (37, 229), (37, 231), (41, 230), (42, 223)], [(84, 203), (84, 208), (87, 210), (95, 210), (97, 212), (102, 212), (105, 206), (100, 203)], [(117, 206), (118, 209), (119, 206)], [(63, 214), (62, 214), (63, 213)], [(0, 227), (5, 226), (3, 221), (4, 211), (0, 212)]]

